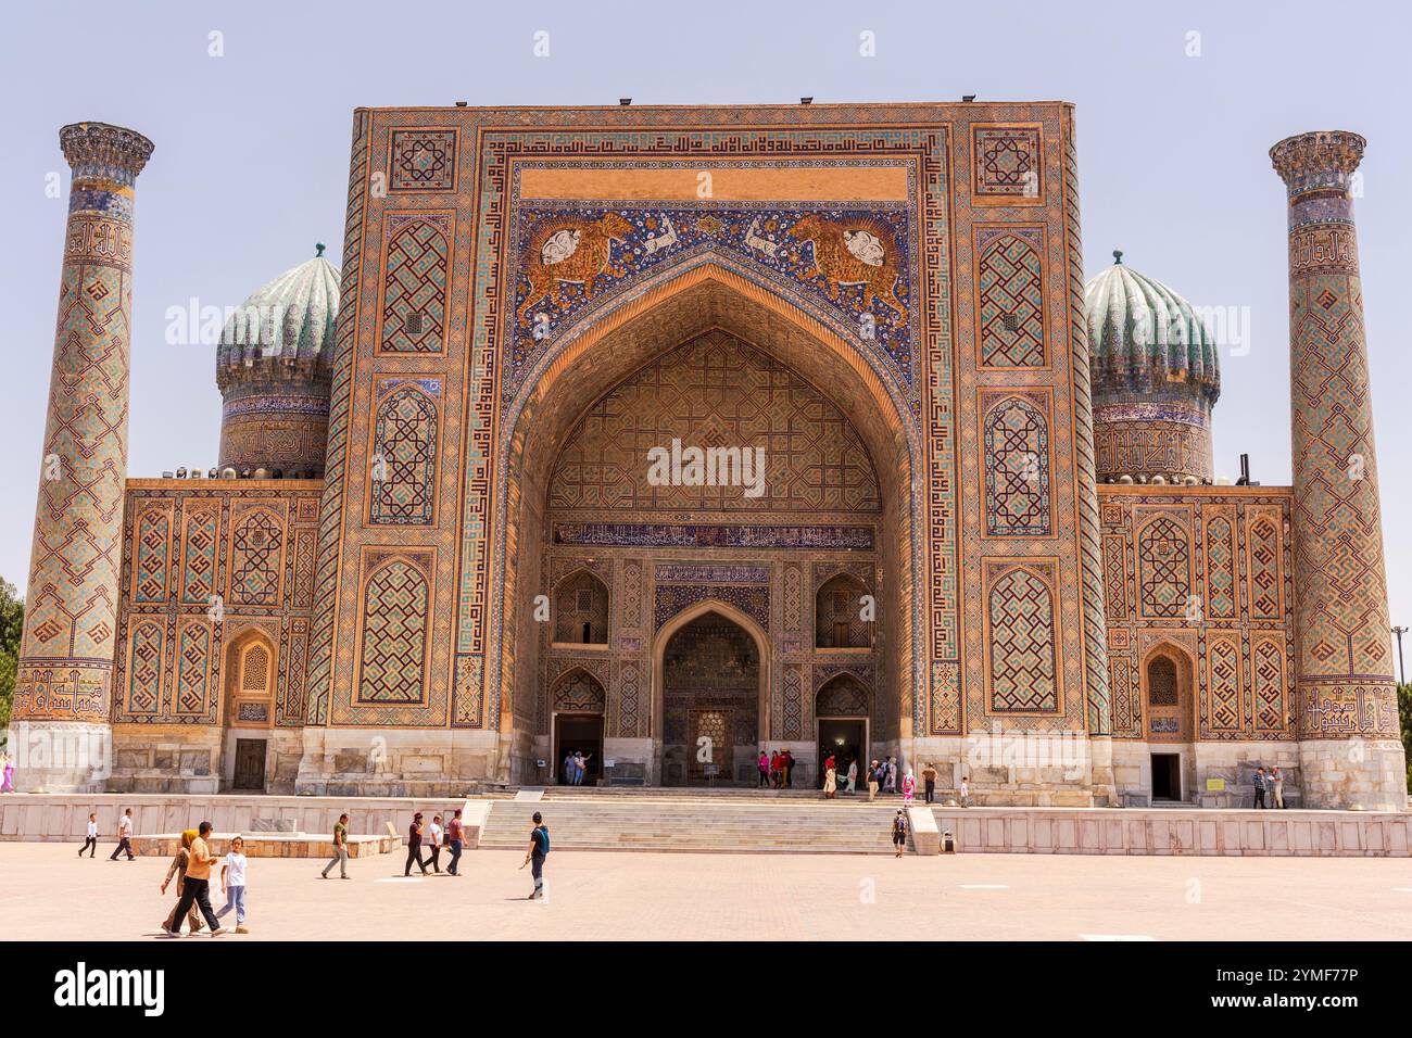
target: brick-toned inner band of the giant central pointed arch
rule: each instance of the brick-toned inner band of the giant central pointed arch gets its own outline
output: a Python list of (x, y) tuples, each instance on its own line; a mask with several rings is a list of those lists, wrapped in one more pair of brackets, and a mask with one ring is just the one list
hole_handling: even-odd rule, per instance
[[(777, 357), (815, 386), (829, 386), (844, 414), (866, 418), (856, 421), (856, 426), (874, 469), (897, 473), (882, 482), (882, 528), (890, 535), (881, 538), (878, 551), (888, 587), (898, 600), (887, 603), (880, 616), (895, 624), (895, 633), (887, 636), (892, 647), (890, 661), (895, 661), (888, 686), (901, 691), (899, 724), (909, 732), (911, 689), (922, 685), (925, 672), (928, 592), (925, 579), (916, 576), (923, 572), (926, 542), (919, 422), (911, 412), (905, 387), (891, 381), (858, 343), (819, 321), (788, 291), (765, 290), (713, 256), (696, 257), (692, 266), (674, 270), (651, 287), (606, 298), (587, 319), (558, 336), (554, 347), (535, 360), (514, 400), (505, 401), (494, 448), (497, 514), (491, 525), (497, 541), (481, 569), (462, 566), (463, 579), (474, 580), (480, 572), (487, 589), (498, 587), (503, 603), (498, 610), (487, 610), (487, 682), (498, 686), (498, 696), (491, 696), (504, 705), (535, 693), (532, 675), (522, 665), (530, 654), (505, 652), (505, 643), (513, 638), (527, 644), (532, 630), (527, 619), (528, 597), (517, 589), (539, 586), (539, 561), (530, 552), (508, 551), (507, 545), (525, 544), (542, 528), (545, 479), (556, 443), (582, 417), (586, 404), (647, 364), (664, 345), (682, 345), (713, 329)], [(611, 347), (600, 347), (610, 336)], [(592, 363), (580, 363), (590, 350)], [(473, 510), (466, 521), (477, 521)], [(469, 587), (463, 593), (474, 597)], [(462, 631), (457, 651), (479, 651), (473, 630)], [(508, 729), (513, 716), (513, 710), (501, 706), (494, 720)], [(659, 716), (654, 724), (659, 724)]]

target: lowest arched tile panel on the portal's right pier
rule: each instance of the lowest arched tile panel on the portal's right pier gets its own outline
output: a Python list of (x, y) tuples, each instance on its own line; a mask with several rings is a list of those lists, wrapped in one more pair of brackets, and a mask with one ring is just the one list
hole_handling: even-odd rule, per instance
[(1055, 603), (1049, 583), (1015, 566), (991, 583), (988, 610), (990, 709), (1058, 710)]

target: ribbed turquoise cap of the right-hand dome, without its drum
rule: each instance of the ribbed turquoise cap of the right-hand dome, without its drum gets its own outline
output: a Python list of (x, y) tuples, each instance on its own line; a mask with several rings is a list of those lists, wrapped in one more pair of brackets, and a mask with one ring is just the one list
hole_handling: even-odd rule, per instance
[(1221, 393), (1216, 340), (1192, 304), (1121, 260), (1083, 288), (1093, 359), (1093, 400), (1190, 395), (1216, 402)]

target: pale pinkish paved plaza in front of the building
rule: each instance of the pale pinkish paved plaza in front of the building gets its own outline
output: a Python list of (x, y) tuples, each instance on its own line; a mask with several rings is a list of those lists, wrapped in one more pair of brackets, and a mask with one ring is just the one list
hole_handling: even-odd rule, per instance
[[(0, 843), (0, 935), (154, 939), (168, 860), (109, 861), (112, 846)], [(384, 854), (340, 881), (251, 859), (251, 933), (222, 939), (1412, 939), (1408, 859), (558, 852), (544, 904), (522, 900), (521, 860), (469, 852), (460, 878), (404, 880)]]

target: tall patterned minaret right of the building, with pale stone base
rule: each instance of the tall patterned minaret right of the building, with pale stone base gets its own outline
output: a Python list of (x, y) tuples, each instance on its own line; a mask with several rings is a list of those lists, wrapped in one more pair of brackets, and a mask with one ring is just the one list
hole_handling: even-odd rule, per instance
[(1299, 767), (1309, 806), (1405, 811), (1353, 222), (1365, 144), (1320, 130), (1269, 150), (1289, 188)]

